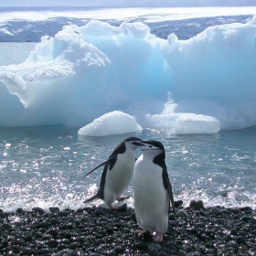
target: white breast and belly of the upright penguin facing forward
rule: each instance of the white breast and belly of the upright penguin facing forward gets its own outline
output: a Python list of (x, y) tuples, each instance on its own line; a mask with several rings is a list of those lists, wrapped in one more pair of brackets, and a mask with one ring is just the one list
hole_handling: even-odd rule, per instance
[(168, 227), (169, 197), (163, 183), (163, 169), (151, 157), (141, 155), (134, 165), (133, 198), (136, 219), (142, 229), (165, 233)]

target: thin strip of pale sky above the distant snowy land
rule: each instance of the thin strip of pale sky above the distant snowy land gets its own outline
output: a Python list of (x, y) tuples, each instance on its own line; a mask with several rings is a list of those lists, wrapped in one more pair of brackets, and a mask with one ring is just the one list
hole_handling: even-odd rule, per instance
[(1, 0), (0, 6), (256, 6), (256, 0)]

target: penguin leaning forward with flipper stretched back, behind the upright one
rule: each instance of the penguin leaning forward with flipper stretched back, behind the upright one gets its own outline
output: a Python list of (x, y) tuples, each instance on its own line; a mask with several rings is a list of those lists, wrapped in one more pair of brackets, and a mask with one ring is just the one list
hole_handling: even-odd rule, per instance
[[(129, 137), (119, 144), (110, 155), (109, 159), (98, 165), (94, 170), (104, 165), (103, 172), (101, 174), (100, 188), (96, 195), (84, 201), (84, 203), (90, 202), (93, 199), (101, 198), (106, 202), (109, 208), (116, 209), (118, 207), (113, 206), (115, 200), (121, 201), (128, 197), (122, 197), (123, 191), (129, 186), (133, 177), (133, 167), (135, 163), (135, 149), (139, 145), (141, 139), (137, 137)], [(82, 178), (84, 178), (83, 176)]]

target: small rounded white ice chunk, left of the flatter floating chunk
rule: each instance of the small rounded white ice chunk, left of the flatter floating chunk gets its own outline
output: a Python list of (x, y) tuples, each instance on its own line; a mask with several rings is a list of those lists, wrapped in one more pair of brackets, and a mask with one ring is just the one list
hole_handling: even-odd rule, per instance
[(142, 130), (133, 116), (128, 113), (114, 111), (103, 114), (92, 123), (80, 128), (80, 135), (107, 136), (112, 134), (133, 133)]

